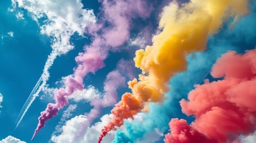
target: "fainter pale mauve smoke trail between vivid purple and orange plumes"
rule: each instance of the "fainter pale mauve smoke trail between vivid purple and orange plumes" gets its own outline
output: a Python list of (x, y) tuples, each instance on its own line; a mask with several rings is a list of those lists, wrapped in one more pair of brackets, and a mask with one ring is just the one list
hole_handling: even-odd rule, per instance
[(110, 107), (116, 103), (118, 100), (117, 90), (120, 87), (125, 87), (125, 82), (127, 82), (125, 74), (127, 74), (126, 76), (128, 79), (134, 78), (134, 66), (132, 66), (133, 64), (134, 63), (132, 61), (120, 60), (116, 70), (113, 70), (107, 74), (106, 80), (104, 82), (103, 98), (91, 101), (90, 104), (94, 108), (92, 108), (89, 113), (85, 113), (85, 116), (87, 116), (88, 120), (82, 123), (80, 130), (73, 137), (73, 142), (77, 142), (77, 140), (83, 135), (90, 124), (94, 121), (94, 119), (100, 115), (101, 108)]

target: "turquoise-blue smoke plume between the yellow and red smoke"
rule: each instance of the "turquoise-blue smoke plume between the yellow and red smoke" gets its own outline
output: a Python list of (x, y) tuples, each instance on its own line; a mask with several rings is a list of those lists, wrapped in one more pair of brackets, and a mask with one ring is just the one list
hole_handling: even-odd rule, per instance
[[(221, 54), (230, 50), (243, 52), (245, 49), (252, 49), (255, 47), (256, 41), (256, 11), (255, 5), (251, 4), (253, 8), (249, 10), (251, 14), (241, 17), (235, 23), (233, 29), (230, 29), (230, 23), (226, 23), (221, 31), (214, 36), (211, 36), (208, 41), (207, 49), (203, 52), (195, 52), (187, 56), (187, 70), (183, 73), (175, 74), (170, 80), (170, 90), (165, 94), (166, 100), (162, 104), (149, 104), (149, 112), (143, 113), (141, 120), (134, 120), (134, 122), (127, 122), (125, 120), (124, 129), (118, 130), (113, 142), (142, 142), (149, 138), (149, 133), (155, 128), (166, 132), (169, 129), (168, 123), (172, 118), (184, 118), (188, 122), (194, 120), (181, 113), (179, 101), (182, 98), (187, 98), (189, 92), (194, 89), (195, 84), (202, 84), (203, 79), (208, 76), (212, 65)], [(230, 21), (231, 22), (231, 21)], [(157, 139), (157, 138), (155, 138)], [(162, 138), (158, 138), (159, 141)], [(245, 142), (254, 142), (254, 136), (243, 138)], [(153, 142), (152, 140), (149, 142)]]

